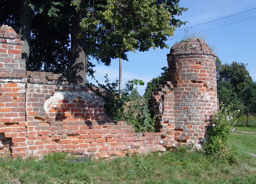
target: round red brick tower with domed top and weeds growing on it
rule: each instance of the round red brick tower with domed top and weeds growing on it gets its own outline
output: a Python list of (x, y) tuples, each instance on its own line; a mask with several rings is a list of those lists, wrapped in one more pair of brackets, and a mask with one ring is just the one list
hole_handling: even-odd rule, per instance
[(174, 139), (200, 146), (205, 125), (217, 107), (216, 54), (202, 39), (174, 44), (168, 79), (174, 86)]

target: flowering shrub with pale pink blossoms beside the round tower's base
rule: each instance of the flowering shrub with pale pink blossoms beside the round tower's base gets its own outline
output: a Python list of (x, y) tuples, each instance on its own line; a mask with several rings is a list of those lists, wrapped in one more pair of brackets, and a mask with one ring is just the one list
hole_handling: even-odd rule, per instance
[(231, 111), (232, 105), (226, 106), (221, 102), (220, 110), (215, 112), (207, 125), (206, 140), (204, 142), (204, 151), (207, 154), (222, 155), (226, 152), (227, 138), (231, 126), (236, 124), (235, 117), (240, 110)]

